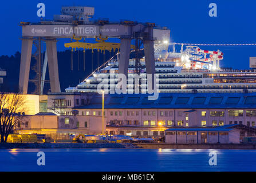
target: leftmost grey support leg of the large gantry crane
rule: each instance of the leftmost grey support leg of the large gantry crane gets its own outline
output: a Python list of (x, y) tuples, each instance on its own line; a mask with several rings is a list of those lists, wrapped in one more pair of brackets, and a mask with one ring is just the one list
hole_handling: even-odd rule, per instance
[(19, 67), (19, 90), (27, 94), (33, 38), (22, 38), (21, 66)]

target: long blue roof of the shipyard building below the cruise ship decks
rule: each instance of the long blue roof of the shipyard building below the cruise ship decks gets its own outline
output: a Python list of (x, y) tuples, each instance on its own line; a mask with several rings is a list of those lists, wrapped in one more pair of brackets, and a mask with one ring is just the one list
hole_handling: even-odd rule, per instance
[[(148, 94), (105, 94), (105, 109), (255, 109), (256, 93), (159, 93), (149, 101)], [(101, 109), (102, 98), (95, 93), (88, 105), (76, 109)]]

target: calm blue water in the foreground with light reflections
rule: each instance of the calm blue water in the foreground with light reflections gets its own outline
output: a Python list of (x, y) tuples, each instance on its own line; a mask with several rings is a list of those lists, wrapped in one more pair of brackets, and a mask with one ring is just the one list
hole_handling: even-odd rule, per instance
[[(210, 166), (215, 150), (218, 164)], [(45, 166), (37, 165), (37, 152)], [(0, 171), (256, 171), (255, 150), (0, 149)]]

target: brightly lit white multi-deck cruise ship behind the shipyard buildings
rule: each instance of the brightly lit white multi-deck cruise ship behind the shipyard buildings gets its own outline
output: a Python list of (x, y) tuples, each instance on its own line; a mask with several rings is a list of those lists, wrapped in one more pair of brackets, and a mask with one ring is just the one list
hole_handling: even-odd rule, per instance
[[(163, 47), (163, 46), (162, 46)], [(174, 47), (175, 48), (175, 47)], [(256, 92), (256, 69), (233, 70), (221, 69), (223, 59), (221, 51), (202, 50), (198, 46), (186, 46), (180, 53), (155, 47), (155, 69), (158, 76), (160, 93), (252, 93)], [(140, 59), (140, 76), (147, 73), (145, 59)], [(66, 92), (97, 92), (99, 74), (118, 74), (119, 58), (109, 59), (105, 65), (90, 74), (76, 87), (68, 87)], [(128, 79), (136, 73), (135, 59), (129, 60)], [(110, 78), (110, 77), (109, 77)], [(99, 80), (99, 79), (98, 79)], [(115, 85), (118, 78), (115, 79)], [(133, 82), (134, 83), (134, 82)], [(113, 82), (109, 82), (109, 87)], [(131, 82), (130, 82), (131, 84)], [(141, 83), (140, 83), (141, 84)], [(142, 84), (140, 88), (143, 87)]]

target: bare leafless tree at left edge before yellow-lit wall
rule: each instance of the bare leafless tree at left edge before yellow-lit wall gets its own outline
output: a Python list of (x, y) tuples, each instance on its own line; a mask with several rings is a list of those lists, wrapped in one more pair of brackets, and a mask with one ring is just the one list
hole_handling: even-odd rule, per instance
[[(1, 143), (7, 141), (7, 137), (22, 122), (24, 112), (24, 96), (19, 93), (0, 92), (0, 134)], [(5, 137), (5, 138), (4, 138)]]

